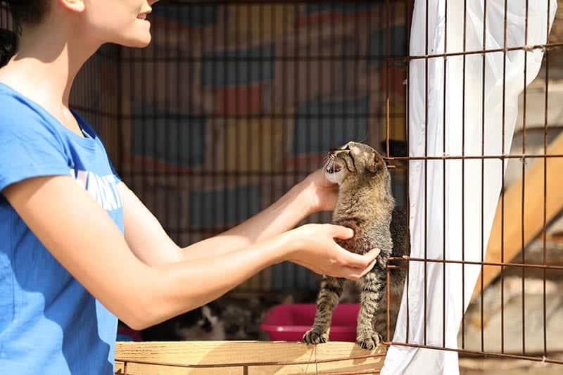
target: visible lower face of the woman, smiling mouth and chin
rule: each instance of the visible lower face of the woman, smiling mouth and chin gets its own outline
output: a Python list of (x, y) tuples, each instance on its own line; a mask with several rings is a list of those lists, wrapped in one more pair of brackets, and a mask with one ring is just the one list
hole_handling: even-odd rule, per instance
[(87, 32), (102, 43), (145, 47), (151, 42), (151, 6), (158, 0), (84, 0)]

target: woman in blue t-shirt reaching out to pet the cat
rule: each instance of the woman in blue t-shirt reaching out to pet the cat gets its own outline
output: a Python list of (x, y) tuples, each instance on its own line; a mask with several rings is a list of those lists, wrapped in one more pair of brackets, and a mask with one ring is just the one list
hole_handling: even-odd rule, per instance
[[(69, 108), (72, 82), (104, 43), (144, 47), (156, 0), (8, 0), (17, 39), (0, 61), (0, 368), (113, 374), (118, 318), (143, 329), (290, 260), (358, 279), (378, 250), (339, 247), (350, 229), (307, 224), (336, 188), (308, 176), (255, 217), (177, 246), (121, 182), (103, 144)], [(142, 79), (142, 77), (139, 77)]]

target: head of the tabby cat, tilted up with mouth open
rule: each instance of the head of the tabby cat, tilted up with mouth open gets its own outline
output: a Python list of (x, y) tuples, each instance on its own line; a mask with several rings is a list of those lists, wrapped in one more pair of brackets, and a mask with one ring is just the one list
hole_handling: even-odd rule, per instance
[(372, 147), (358, 142), (348, 142), (329, 151), (325, 173), (330, 182), (340, 186), (390, 182), (385, 160)]

